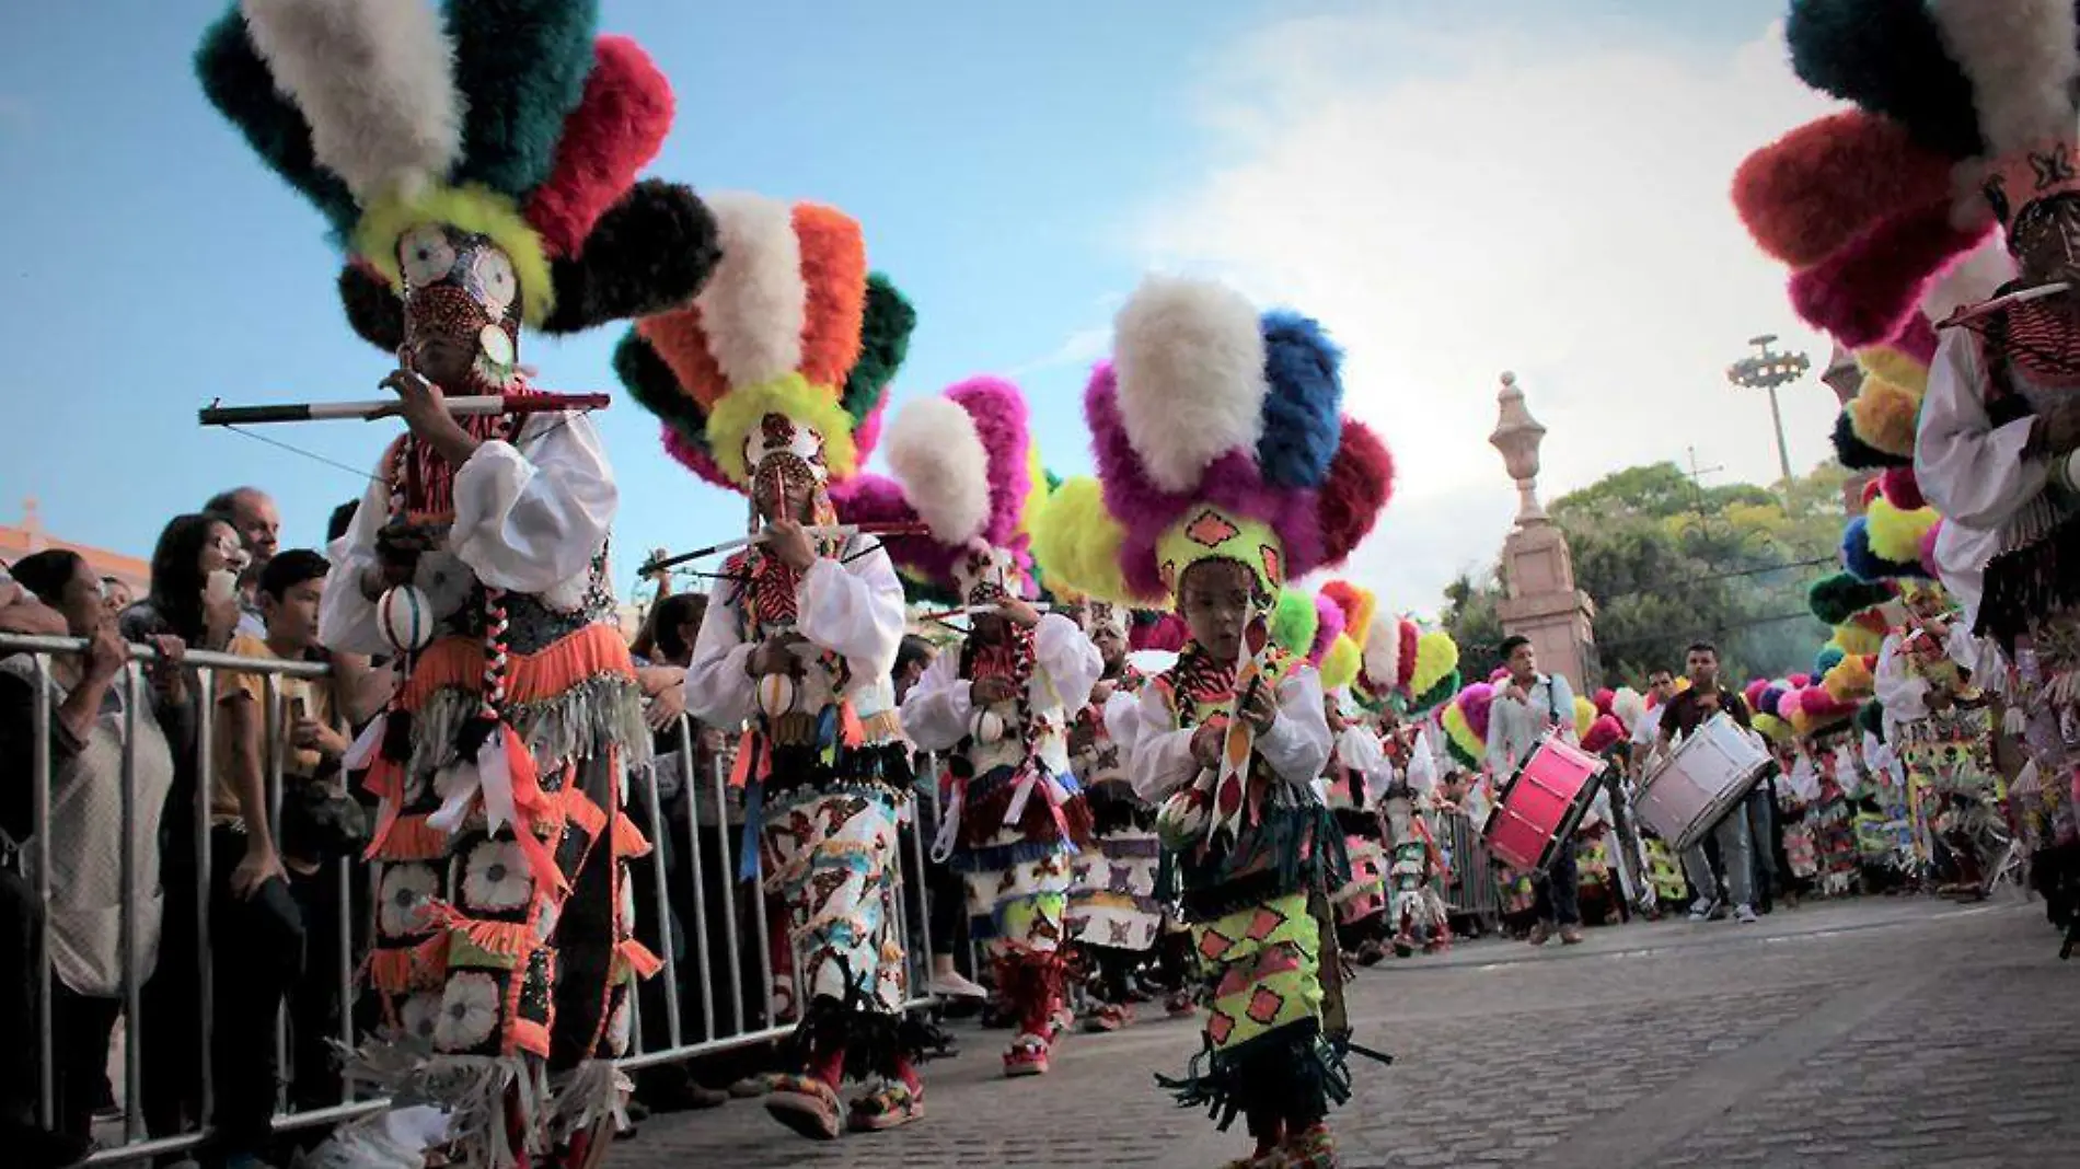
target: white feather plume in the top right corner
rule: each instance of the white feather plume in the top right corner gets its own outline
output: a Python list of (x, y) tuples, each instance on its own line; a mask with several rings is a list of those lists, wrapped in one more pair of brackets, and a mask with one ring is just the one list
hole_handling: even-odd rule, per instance
[(1988, 156), (2074, 133), (2072, 0), (1928, 0), (1943, 46), (1972, 81)]

